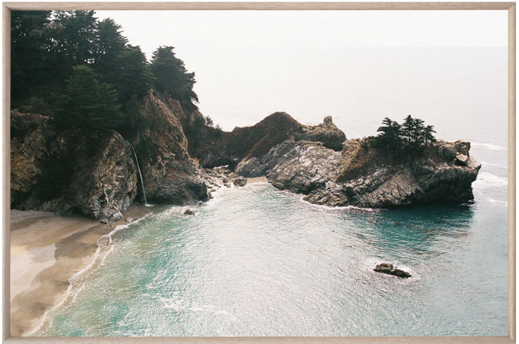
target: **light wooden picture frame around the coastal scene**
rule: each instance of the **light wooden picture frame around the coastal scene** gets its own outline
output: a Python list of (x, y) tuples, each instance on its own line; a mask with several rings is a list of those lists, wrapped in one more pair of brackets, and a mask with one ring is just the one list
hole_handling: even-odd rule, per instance
[[(7, 2), (2, 5), (3, 16), (3, 59), (2, 59), (2, 97), (3, 97), (3, 266), (2, 287), (4, 296), (2, 322), (2, 341), (7, 343), (512, 343), (516, 340), (515, 310), (515, 226), (516, 226), (516, 132), (515, 132), (515, 2), (439, 2), (439, 3), (35, 3)], [(111, 338), (111, 337), (10, 337), (10, 11), (11, 10), (507, 10), (508, 11), (508, 336), (502, 337), (250, 337), (250, 338)]]

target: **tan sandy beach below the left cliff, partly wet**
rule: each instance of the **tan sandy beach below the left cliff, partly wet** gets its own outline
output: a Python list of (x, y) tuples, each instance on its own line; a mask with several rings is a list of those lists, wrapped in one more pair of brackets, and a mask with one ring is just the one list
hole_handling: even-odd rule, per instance
[(101, 236), (151, 211), (134, 203), (119, 221), (101, 224), (80, 215), (11, 210), (11, 336), (29, 333), (64, 298), (69, 279), (92, 262)]

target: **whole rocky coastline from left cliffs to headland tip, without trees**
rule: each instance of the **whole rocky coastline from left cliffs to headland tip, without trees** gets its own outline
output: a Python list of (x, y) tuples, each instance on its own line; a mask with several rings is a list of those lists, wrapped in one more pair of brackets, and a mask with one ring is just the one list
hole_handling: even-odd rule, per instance
[(152, 93), (139, 116), (138, 128), (123, 137), (114, 130), (60, 129), (48, 117), (13, 112), (11, 207), (115, 221), (135, 198), (143, 200), (130, 142), (148, 201), (169, 204), (210, 198), (208, 184), (217, 178), (200, 164), (228, 164), (244, 177), (266, 175), (276, 188), (304, 194), (312, 203), (370, 208), (466, 202), (481, 168), (469, 142), (438, 140), (418, 155), (397, 159), (364, 140), (346, 140), (331, 117), (303, 126), (275, 113), (231, 132), (207, 126), (194, 131), (189, 123), (186, 128), (178, 102), (165, 103)]

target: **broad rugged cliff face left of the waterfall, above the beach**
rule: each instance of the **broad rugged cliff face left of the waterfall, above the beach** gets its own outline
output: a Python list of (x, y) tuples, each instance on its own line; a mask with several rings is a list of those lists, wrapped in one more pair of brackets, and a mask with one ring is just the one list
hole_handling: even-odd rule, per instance
[(49, 118), (11, 115), (11, 207), (116, 221), (136, 195), (131, 148), (113, 130), (80, 135)]

